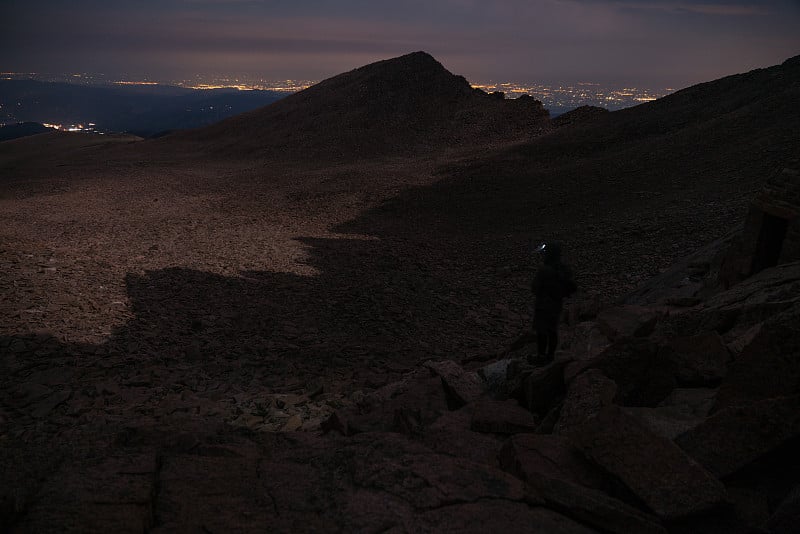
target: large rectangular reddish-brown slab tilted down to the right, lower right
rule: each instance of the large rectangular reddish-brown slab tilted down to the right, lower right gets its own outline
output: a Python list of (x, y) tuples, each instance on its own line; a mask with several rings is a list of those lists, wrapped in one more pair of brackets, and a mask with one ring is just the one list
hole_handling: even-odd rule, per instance
[(706, 512), (728, 500), (725, 486), (708, 471), (616, 406), (604, 408), (572, 437), (663, 520)]

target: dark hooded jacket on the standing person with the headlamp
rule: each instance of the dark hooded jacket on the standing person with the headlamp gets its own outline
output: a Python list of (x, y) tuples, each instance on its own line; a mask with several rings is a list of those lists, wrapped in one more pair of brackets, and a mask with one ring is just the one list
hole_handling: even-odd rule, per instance
[(541, 326), (555, 327), (564, 297), (576, 289), (572, 270), (561, 263), (561, 248), (557, 243), (548, 243), (545, 247), (544, 262), (533, 279), (531, 289), (536, 295), (534, 320)]

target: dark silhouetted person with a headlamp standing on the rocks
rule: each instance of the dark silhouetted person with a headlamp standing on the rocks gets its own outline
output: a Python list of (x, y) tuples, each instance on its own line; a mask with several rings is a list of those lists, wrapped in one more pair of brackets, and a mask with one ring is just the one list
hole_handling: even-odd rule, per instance
[(577, 286), (572, 270), (561, 262), (560, 243), (544, 243), (539, 250), (542, 264), (531, 284), (536, 297), (533, 328), (537, 345), (536, 361), (531, 363), (550, 363), (555, 359), (558, 346), (558, 323), (564, 298), (572, 295)]

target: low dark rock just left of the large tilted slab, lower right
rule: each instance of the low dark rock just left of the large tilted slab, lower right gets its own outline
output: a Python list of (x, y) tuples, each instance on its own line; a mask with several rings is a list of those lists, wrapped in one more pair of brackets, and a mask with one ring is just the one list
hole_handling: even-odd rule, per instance
[(545, 477), (594, 489), (606, 486), (597, 467), (563, 436), (513, 436), (497, 453), (497, 459), (505, 471), (525, 481)]

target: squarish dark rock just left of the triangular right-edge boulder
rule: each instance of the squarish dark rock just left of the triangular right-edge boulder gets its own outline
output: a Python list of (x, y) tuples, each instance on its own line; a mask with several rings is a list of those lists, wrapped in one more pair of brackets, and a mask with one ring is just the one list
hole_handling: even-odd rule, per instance
[(681, 385), (713, 386), (725, 377), (731, 356), (716, 332), (674, 338), (669, 341), (669, 346)]

